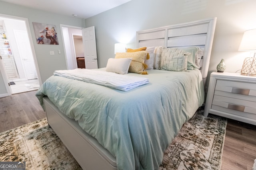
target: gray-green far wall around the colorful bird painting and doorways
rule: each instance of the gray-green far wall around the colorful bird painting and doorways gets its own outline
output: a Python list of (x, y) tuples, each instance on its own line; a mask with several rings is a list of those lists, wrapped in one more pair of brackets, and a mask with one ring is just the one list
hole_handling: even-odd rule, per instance
[[(58, 7), (56, 7), (58, 8)], [(62, 43), (62, 37), (60, 32), (60, 24), (74, 25), (78, 27), (85, 27), (84, 20), (74, 18), (72, 16), (62, 16), (50, 12), (44, 12), (32, 8), (26, 8), (22, 6), (17, 6), (14, 4), (9, 4), (0, 1), (0, 14), (18, 16), (22, 18), (28, 18), (29, 27), (32, 34), (32, 41), (34, 44), (36, 59), (38, 62), (38, 67), (40, 71), (40, 77), (42, 82), (47, 78), (52, 76), (54, 70), (66, 69), (66, 59), (64, 57), (64, 48)], [(56, 32), (58, 33), (59, 45), (38, 45), (36, 42), (36, 37), (34, 33), (34, 28), (32, 22), (48, 23), (56, 25)], [(60, 49), (61, 54), (58, 54), (58, 49)], [(55, 55), (50, 55), (50, 51), (54, 51)], [(0, 76), (0, 94), (6, 93), (2, 75)]]

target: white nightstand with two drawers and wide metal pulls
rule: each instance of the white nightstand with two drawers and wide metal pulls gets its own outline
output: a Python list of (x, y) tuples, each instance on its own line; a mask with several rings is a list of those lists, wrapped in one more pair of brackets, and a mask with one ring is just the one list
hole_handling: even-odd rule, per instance
[(208, 113), (256, 125), (256, 76), (212, 72), (204, 116)]

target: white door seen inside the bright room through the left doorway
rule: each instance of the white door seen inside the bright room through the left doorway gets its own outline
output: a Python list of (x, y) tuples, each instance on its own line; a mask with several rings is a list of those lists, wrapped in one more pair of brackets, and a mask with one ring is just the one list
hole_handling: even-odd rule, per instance
[(28, 33), (22, 30), (13, 31), (26, 77), (28, 80), (36, 79), (36, 66), (34, 63), (30, 42), (28, 39)]

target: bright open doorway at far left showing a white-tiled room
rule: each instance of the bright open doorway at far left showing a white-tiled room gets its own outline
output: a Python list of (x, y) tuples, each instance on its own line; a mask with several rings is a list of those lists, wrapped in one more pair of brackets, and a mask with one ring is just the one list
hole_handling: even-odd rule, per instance
[(37, 90), (40, 85), (28, 29), (26, 19), (0, 14), (0, 64), (8, 95)]

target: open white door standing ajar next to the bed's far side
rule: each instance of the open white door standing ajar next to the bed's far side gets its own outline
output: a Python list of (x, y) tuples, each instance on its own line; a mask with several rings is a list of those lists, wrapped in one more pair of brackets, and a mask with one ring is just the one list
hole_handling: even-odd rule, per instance
[(85, 68), (98, 68), (94, 26), (82, 29)]

